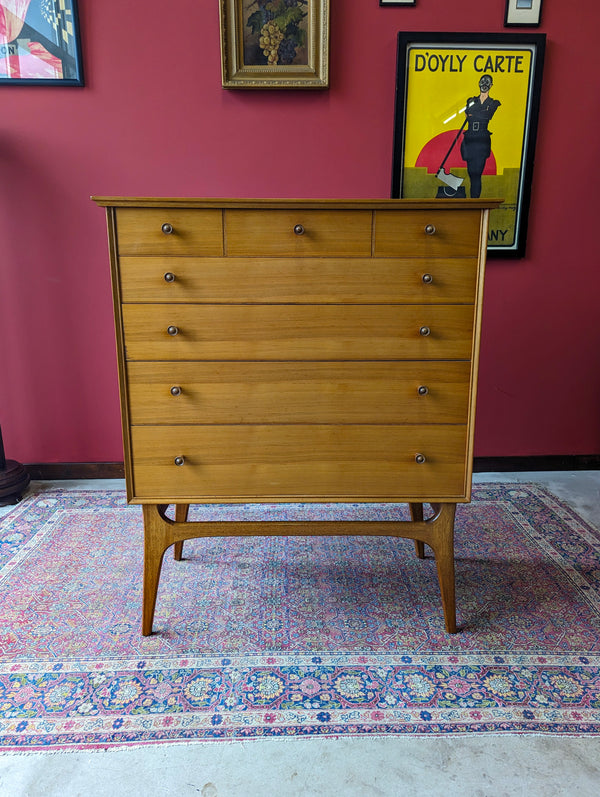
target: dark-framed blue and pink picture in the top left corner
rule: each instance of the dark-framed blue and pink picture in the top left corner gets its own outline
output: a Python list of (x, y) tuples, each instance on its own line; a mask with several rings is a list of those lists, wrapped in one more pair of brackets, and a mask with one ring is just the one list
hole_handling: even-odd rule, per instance
[(0, 0), (0, 83), (83, 86), (76, 0)]

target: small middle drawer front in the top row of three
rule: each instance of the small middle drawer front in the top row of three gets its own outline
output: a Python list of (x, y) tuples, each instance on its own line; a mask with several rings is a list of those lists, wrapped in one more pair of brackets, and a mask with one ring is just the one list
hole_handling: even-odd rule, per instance
[(227, 210), (226, 254), (369, 257), (371, 224), (368, 210)]

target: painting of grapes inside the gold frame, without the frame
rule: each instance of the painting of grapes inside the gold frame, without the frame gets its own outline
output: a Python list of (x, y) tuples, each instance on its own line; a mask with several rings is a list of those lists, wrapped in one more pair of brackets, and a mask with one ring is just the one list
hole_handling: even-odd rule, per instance
[(244, 63), (292, 66), (308, 63), (310, 0), (243, 0)]

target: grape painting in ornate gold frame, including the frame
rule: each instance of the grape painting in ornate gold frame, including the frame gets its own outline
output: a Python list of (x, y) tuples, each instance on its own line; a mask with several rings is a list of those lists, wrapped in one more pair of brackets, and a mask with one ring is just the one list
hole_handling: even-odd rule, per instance
[(329, 86), (329, 0), (220, 0), (228, 89)]

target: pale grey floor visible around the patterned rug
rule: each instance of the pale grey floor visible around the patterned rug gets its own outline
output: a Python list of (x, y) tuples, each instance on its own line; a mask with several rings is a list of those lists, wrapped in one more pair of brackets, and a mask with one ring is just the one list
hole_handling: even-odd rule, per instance
[[(600, 471), (482, 473), (474, 481), (544, 485), (600, 528)], [(56, 484), (124, 488), (120, 481)], [(0, 755), (0, 797), (84, 795), (598, 797), (600, 738), (285, 739)]]

